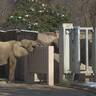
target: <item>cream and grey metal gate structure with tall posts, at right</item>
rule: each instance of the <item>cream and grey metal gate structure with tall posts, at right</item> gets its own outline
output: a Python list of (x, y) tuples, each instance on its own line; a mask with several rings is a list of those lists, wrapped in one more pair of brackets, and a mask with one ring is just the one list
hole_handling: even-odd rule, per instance
[[(85, 51), (81, 50), (81, 32), (84, 31), (85, 36)], [(73, 24), (63, 24), (59, 38), (60, 52), (60, 81), (65, 79), (68, 73), (85, 73), (91, 74), (89, 69), (89, 32), (93, 32), (91, 27), (74, 27)], [(93, 35), (92, 35), (93, 36)], [(93, 38), (93, 37), (92, 37)], [(93, 38), (94, 40), (94, 38)], [(93, 41), (92, 40), (92, 41)], [(94, 45), (95, 41), (93, 42)], [(85, 70), (80, 70), (81, 52), (85, 53)], [(91, 50), (92, 51), (92, 50)], [(92, 53), (92, 52), (91, 52)], [(92, 59), (92, 56), (91, 56)], [(95, 59), (94, 59), (95, 60)], [(93, 61), (94, 61), (93, 60)]]

